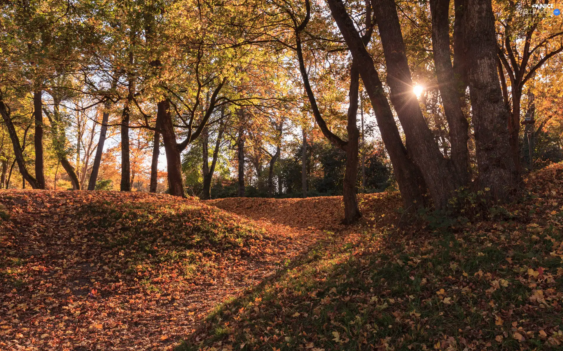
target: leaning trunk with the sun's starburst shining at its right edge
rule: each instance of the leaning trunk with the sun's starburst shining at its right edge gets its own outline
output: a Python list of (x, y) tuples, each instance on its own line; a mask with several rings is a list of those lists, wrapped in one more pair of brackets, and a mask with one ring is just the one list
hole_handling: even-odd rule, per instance
[(422, 172), (434, 206), (444, 208), (456, 188), (454, 176), (414, 95), (395, 1), (375, 0), (374, 3), (387, 66), (387, 85), (391, 88), (391, 102), (405, 131), (407, 151)]

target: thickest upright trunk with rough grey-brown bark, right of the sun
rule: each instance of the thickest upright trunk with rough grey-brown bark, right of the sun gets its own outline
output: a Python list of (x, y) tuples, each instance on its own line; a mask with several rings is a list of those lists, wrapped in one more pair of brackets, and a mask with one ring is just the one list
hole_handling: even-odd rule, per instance
[(478, 186), (490, 188), (495, 200), (510, 199), (518, 174), (508, 135), (509, 112), (504, 105), (497, 73), (497, 40), (490, 0), (467, 0), (464, 47), (468, 62)]

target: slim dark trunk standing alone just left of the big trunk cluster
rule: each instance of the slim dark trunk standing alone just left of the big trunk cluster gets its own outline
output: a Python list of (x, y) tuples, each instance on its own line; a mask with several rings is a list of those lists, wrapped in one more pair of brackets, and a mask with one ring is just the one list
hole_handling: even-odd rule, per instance
[(352, 62), (350, 69), (350, 106), (348, 107), (348, 145), (346, 146), (346, 171), (344, 172), (343, 202), (344, 224), (352, 224), (361, 218), (358, 200), (356, 199), (356, 181), (358, 180), (358, 139), (360, 131), (356, 126), (358, 115), (358, 89), (360, 76), (358, 67)]

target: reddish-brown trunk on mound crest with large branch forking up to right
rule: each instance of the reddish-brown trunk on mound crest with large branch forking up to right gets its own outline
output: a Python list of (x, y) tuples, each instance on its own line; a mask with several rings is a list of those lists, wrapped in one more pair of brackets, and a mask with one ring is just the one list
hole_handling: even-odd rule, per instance
[(162, 141), (166, 151), (166, 164), (168, 172), (168, 192), (171, 195), (185, 198), (184, 181), (182, 180), (182, 160), (180, 149), (176, 142), (176, 133), (172, 124), (172, 116), (169, 110), (168, 99), (158, 102), (157, 120), (162, 131)]

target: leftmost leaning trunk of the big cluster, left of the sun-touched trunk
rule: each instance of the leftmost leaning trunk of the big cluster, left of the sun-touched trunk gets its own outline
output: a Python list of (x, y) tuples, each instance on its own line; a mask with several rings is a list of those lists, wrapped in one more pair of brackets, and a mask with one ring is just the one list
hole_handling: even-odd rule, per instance
[(377, 124), (393, 165), (401, 196), (405, 203), (405, 209), (406, 211), (412, 211), (414, 208), (424, 206), (425, 198), (423, 194), (425, 193), (426, 185), (420, 171), (406, 153), (406, 148), (401, 141), (391, 107), (385, 97), (385, 90), (373, 65), (373, 59), (365, 49), (358, 31), (356, 31), (354, 22), (348, 16), (342, 1), (327, 1), (330, 6), (330, 12), (346, 40), (348, 48), (350, 48), (354, 60), (358, 63), (359, 74), (372, 102), (373, 110), (376, 113)]

